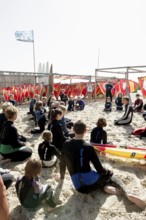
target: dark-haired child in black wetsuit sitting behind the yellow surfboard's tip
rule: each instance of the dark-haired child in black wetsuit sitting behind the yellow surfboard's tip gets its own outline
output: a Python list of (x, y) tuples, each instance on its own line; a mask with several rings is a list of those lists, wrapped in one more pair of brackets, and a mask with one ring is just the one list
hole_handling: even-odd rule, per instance
[(97, 127), (93, 128), (91, 131), (90, 142), (97, 144), (107, 144), (107, 133), (103, 130), (103, 127), (106, 127), (106, 120), (104, 118), (99, 118)]

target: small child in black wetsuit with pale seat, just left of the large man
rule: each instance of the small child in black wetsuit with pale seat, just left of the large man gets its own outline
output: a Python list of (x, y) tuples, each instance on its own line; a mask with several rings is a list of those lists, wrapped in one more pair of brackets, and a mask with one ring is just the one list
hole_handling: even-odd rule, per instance
[(38, 154), (42, 161), (43, 167), (52, 167), (56, 164), (57, 158), (60, 158), (59, 151), (55, 148), (52, 142), (52, 132), (45, 130), (42, 138), (44, 141), (39, 144)]

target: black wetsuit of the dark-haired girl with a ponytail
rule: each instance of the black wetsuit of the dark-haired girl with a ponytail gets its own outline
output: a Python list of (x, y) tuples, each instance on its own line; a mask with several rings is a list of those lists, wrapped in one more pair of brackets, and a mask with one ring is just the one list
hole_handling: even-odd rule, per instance
[(48, 125), (48, 130), (50, 130), (53, 134), (52, 144), (61, 151), (63, 143), (66, 140), (61, 123), (58, 120), (54, 120)]

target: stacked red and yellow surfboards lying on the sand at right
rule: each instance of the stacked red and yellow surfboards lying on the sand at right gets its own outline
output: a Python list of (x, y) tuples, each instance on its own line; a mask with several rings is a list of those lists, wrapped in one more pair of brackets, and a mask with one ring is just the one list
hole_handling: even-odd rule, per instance
[(146, 159), (146, 148), (145, 147), (119, 147), (111, 144), (95, 144), (91, 143), (95, 150), (108, 153), (118, 157), (135, 158), (135, 159)]

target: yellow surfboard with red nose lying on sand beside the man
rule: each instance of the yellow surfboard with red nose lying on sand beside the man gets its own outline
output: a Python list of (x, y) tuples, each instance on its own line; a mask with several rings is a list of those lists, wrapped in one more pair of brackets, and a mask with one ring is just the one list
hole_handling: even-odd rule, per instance
[(125, 158), (135, 158), (135, 159), (146, 159), (146, 152), (145, 151), (138, 151), (132, 149), (121, 149), (121, 148), (110, 148), (110, 147), (103, 147), (103, 146), (94, 146), (95, 150), (112, 154), (118, 157), (125, 157)]

